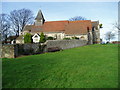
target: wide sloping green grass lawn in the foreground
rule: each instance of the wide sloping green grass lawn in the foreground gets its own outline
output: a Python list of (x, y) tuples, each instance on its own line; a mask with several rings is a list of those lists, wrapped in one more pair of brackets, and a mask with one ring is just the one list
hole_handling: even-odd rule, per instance
[(3, 88), (117, 88), (118, 47), (89, 45), (3, 59)]

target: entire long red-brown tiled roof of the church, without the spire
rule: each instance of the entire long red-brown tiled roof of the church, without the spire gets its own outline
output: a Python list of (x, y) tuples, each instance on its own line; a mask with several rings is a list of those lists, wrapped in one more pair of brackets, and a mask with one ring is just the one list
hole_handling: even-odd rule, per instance
[(47, 21), (42, 26), (27, 25), (24, 30), (39, 32), (65, 32), (65, 34), (86, 34), (87, 28), (92, 30), (91, 20), (79, 21)]

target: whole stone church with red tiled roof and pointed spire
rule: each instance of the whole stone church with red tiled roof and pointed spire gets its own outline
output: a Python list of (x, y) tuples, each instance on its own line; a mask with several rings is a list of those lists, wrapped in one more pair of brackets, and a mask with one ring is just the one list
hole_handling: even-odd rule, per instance
[(46, 21), (41, 10), (38, 11), (34, 24), (26, 25), (24, 30), (20, 32), (16, 43), (24, 43), (23, 36), (26, 33), (33, 35), (34, 39), (34, 37), (39, 38), (38, 35), (40, 35), (41, 32), (43, 32), (46, 37), (54, 37), (56, 40), (77, 37), (91, 43), (100, 43), (99, 21)]

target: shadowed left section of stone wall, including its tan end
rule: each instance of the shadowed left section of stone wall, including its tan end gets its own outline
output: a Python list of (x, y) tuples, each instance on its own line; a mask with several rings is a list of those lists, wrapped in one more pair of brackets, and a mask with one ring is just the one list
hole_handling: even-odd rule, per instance
[(46, 45), (40, 44), (15, 44), (2, 45), (1, 58), (16, 58), (21, 55), (33, 55), (46, 52)]

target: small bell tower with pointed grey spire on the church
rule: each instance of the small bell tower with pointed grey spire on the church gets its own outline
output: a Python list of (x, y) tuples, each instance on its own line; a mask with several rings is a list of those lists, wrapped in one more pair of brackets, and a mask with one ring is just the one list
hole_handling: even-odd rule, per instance
[(44, 24), (44, 22), (45, 22), (44, 16), (43, 16), (41, 10), (39, 10), (38, 14), (35, 18), (35, 23), (34, 24), (35, 24), (35, 26), (42, 26)]

